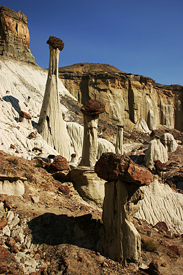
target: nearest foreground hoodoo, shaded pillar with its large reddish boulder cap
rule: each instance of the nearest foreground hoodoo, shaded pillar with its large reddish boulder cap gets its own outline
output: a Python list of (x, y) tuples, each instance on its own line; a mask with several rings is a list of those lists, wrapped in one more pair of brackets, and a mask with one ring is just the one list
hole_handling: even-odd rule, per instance
[(133, 224), (133, 214), (143, 199), (142, 185), (153, 181), (152, 173), (129, 157), (103, 153), (95, 165), (105, 183), (102, 221), (98, 249), (113, 260), (133, 265), (141, 263), (141, 237)]

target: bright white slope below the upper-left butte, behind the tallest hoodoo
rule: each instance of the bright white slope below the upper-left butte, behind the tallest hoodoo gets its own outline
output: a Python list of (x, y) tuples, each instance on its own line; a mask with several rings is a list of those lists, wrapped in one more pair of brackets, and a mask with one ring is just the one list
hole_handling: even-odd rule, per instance
[[(20, 109), (32, 116), (33, 126), (38, 122), (46, 79), (47, 71), (38, 66), (7, 57), (0, 58), (1, 150), (27, 159), (36, 156), (35, 152), (31, 151), (33, 147), (42, 149), (42, 157), (47, 157), (48, 154), (58, 154), (43, 140), (36, 129), (27, 128), (23, 123), (17, 122)], [(59, 94), (63, 96), (70, 95), (60, 80), (58, 81), (58, 90)], [(71, 95), (71, 97), (73, 96)], [(61, 105), (61, 109), (69, 119), (69, 111), (63, 105)], [(31, 132), (34, 132), (36, 137), (29, 139), (27, 137)], [(15, 148), (10, 148), (10, 144), (15, 145)], [(19, 153), (15, 153), (17, 150)]]

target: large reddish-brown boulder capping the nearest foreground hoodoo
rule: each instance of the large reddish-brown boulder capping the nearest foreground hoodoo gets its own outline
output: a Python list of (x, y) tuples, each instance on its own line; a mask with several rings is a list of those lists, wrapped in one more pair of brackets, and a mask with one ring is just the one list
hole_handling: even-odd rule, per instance
[(136, 164), (129, 156), (112, 152), (101, 155), (95, 164), (95, 172), (106, 181), (122, 179), (139, 186), (153, 181), (153, 174), (146, 167)]

